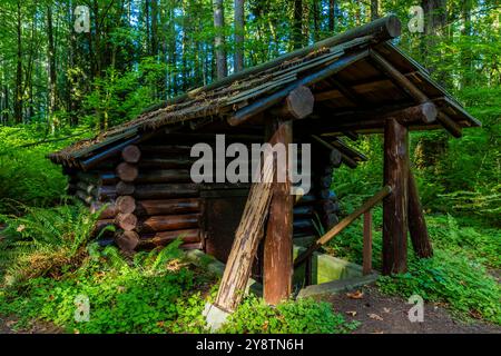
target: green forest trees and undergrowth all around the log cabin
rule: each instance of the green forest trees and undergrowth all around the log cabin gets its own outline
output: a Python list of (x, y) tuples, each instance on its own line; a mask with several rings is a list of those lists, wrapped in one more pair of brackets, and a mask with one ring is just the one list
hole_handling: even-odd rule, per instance
[[(405, 298), (420, 294), (461, 317), (501, 325), (498, 0), (2, 0), (0, 322), (1, 315), (16, 314), (21, 324), (40, 318), (70, 332), (203, 332), (204, 298), (214, 296), (217, 278), (180, 268), (176, 244), (165, 253), (138, 255), (132, 264), (112, 248), (99, 250), (90, 241), (97, 216), (66, 196), (67, 178), (47, 155), (194, 88), (389, 13), (403, 24), (395, 44), (482, 127), (463, 130), (459, 139), (444, 130), (411, 135), (412, 166), (435, 257), (411, 259), (409, 273), (383, 277), (377, 288)], [(350, 145), (369, 159), (333, 175), (341, 218), (381, 189), (383, 176), (381, 136)], [(324, 250), (360, 264), (358, 222)], [(374, 256), (381, 255), (381, 226), (376, 208)], [(178, 264), (168, 265), (173, 269), (158, 268), (173, 260)], [(96, 270), (105, 271), (97, 276)], [(84, 326), (68, 307), (82, 286), (101, 313)], [(107, 286), (119, 291), (105, 294), (100, 288)], [(146, 298), (153, 301), (145, 317), (110, 314), (111, 304), (130, 310)], [(288, 303), (272, 310), (250, 298), (226, 332), (356, 328), (344, 317), (333, 315), (331, 305)], [(294, 318), (298, 322), (289, 323)], [(276, 323), (268, 328), (268, 320)]]

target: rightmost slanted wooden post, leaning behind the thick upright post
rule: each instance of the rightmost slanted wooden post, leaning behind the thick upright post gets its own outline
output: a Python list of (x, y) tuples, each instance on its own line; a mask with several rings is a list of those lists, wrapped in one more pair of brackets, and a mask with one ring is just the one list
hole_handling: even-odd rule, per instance
[(428, 258), (433, 256), (433, 248), (428, 236), (426, 221), (424, 220), (423, 208), (421, 207), (418, 186), (414, 175), (409, 170), (409, 231), (412, 246), (418, 257)]

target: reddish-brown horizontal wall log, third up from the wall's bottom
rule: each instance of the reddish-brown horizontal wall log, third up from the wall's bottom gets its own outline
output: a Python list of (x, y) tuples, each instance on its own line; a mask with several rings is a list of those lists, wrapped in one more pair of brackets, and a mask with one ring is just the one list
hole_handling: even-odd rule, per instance
[(170, 200), (137, 200), (135, 214), (138, 216), (179, 215), (200, 211), (202, 202), (198, 198)]

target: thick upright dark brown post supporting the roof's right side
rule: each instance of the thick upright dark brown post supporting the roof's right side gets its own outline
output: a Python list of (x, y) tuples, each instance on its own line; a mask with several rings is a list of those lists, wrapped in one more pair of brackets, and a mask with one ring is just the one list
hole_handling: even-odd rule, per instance
[(409, 131), (396, 120), (384, 129), (384, 185), (392, 194), (383, 201), (383, 274), (407, 269)]

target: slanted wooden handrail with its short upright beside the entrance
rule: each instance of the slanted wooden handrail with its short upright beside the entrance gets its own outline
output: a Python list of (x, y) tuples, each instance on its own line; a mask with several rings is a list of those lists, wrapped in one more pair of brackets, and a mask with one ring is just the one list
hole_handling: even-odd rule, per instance
[(372, 198), (366, 200), (358, 209), (350, 214), (343, 220), (337, 222), (332, 229), (325, 233), (324, 236), (318, 238), (313, 243), (304, 253), (299, 254), (294, 260), (294, 267), (299, 266), (306, 261), (306, 281), (310, 280), (311, 275), (311, 264), (313, 253), (321, 248), (323, 245), (328, 243), (332, 238), (343, 231), (347, 226), (356, 220), (362, 214), (364, 215), (364, 247), (363, 247), (363, 274), (367, 275), (372, 270), (372, 214), (371, 209), (387, 197), (392, 192), (390, 186), (385, 186), (379, 192), (376, 192)]

